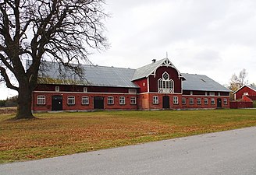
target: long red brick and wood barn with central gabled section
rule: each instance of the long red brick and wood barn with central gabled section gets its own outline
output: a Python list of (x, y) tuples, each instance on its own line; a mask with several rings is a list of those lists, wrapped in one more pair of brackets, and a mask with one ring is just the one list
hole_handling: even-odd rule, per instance
[(42, 67), (34, 112), (229, 108), (229, 89), (206, 75), (180, 73), (168, 58), (137, 69), (80, 65), (83, 76), (57, 63)]

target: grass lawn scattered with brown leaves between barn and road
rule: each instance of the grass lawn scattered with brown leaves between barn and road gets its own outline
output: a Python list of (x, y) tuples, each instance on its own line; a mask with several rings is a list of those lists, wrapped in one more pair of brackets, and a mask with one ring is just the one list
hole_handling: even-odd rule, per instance
[(101, 111), (0, 114), (0, 163), (256, 126), (256, 110)]

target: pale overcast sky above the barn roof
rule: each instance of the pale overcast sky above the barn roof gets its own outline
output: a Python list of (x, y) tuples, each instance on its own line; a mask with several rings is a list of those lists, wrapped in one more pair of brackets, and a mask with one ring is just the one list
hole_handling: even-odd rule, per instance
[[(91, 55), (95, 65), (139, 68), (166, 57), (183, 73), (221, 84), (245, 68), (256, 83), (256, 1), (106, 0), (111, 47)], [(1, 85), (0, 99), (15, 93)]]

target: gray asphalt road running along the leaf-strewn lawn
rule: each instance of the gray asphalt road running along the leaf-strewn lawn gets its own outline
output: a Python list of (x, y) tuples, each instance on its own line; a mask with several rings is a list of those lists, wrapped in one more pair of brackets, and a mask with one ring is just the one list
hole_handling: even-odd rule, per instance
[(0, 165), (0, 174), (256, 174), (256, 128)]

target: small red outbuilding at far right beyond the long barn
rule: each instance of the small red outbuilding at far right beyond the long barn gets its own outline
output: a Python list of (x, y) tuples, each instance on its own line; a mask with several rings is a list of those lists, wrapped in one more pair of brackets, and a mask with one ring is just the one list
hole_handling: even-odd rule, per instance
[(256, 87), (255, 86), (243, 86), (233, 93), (235, 100), (243, 99), (243, 96), (249, 97), (251, 100), (256, 100)]

